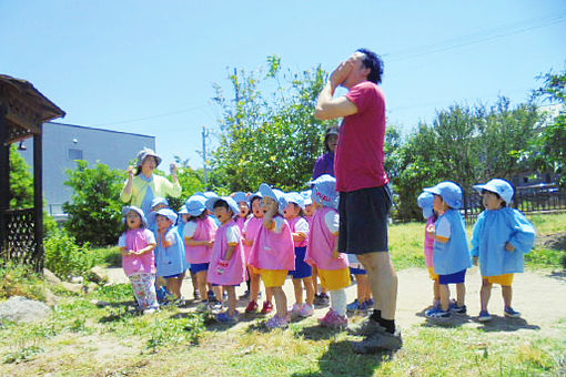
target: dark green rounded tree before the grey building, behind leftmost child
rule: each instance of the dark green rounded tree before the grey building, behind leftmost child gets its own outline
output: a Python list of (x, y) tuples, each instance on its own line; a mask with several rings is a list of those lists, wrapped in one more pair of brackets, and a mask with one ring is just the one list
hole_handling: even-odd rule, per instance
[(123, 231), (120, 191), (125, 173), (97, 163), (89, 167), (87, 161), (78, 160), (75, 170), (68, 170), (65, 185), (73, 188), (71, 202), (63, 204), (69, 214), (64, 227), (79, 242), (98, 246), (115, 244)]

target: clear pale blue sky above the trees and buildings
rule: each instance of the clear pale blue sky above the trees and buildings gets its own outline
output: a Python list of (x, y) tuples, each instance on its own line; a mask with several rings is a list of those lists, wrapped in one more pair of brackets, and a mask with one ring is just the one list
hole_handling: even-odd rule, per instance
[(408, 133), (455, 103), (525, 102), (537, 75), (563, 71), (566, 0), (0, 0), (0, 73), (65, 111), (57, 122), (154, 135), (165, 164), (202, 167), (203, 126), (219, 143), (213, 84), (232, 98), (234, 68), (276, 54), (332, 71), (368, 48), (388, 123)]

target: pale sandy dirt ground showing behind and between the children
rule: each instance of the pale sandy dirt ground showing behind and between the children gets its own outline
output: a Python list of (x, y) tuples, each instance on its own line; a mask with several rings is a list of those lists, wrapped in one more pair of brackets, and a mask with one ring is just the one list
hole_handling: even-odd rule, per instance
[[(128, 283), (122, 268), (108, 269), (111, 282)], [(432, 281), (424, 268), (408, 268), (397, 273), (398, 296), (396, 323), (402, 327), (412, 327), (426, 323), (424, 309), (433, 299)], [(479, 313), (481, 274), (477, 267), (468, 269), (466, 275), (466, 305), (468, 316), (454, 316), (455, 322), (463, 326), (484, 326), (475, 320)], [(287, 278), (284, 285), (287, 303), (294, 303), (293, 283)], [(494, 330), (545, 329), (550, 324), (566, 319), (566, 273), (565, 272), (526, 272), (516, 274), (513, 283), (513, 307), (522, 313), (522, 318), (506, 319), (503, 317), (503, 299), (501, 288), (494, 285), (489, 300), (489, 313), (493, 320), (486, 326)], [(245, 284), (236, 288), (237, 295), (243, 294)], [(193, 288), (190, 278), (185, 278), (183, 295), (192, 299)], [(452, 291), (455, 295), (455, 291)], [(356, 297), (356, 286), (346, 288), (348, 303)], [(243, 313), (246, 302), (239, 300), (239, 309)], [(260, 303), (261, 305), (261, 303)], [(195, 304), (190, 304), (186, 310), (194, 310)], [(315, 316), (322, 317), (327, 308), (316, 308)], [(237, 327), (237, 326), (236, 326)]]

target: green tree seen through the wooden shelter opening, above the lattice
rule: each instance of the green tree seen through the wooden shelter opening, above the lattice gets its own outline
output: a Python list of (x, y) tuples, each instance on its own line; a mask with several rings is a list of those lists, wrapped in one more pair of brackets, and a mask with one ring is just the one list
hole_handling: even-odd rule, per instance
[(18, 153), (16, 144), (10, 145), (10, 207), (14, 210), (33, 206), (33, 175), (26, 159)]

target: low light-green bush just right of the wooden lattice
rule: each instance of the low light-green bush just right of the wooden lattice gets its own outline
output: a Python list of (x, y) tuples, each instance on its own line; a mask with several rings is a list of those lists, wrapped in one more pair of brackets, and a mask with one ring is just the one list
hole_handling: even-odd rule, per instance
[(82, 275), (94, 265), (89, 252), (90, 244), (79, 246), (77, 240), (64, 230), (55, 231), (48, 237), (44, 248), (46, 267), (63, 279)]

